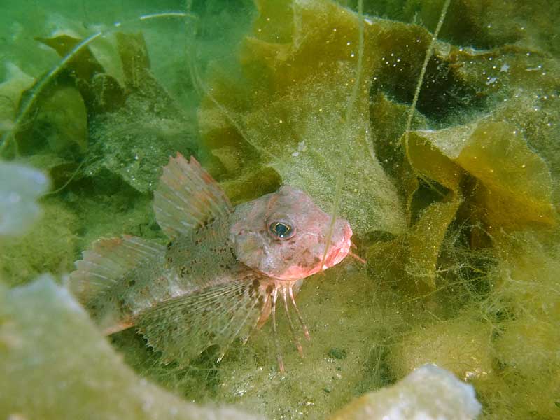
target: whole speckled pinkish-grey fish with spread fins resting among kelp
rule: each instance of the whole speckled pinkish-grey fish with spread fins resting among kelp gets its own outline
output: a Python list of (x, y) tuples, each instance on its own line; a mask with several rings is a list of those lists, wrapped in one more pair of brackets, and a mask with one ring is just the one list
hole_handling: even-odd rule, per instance
[(287, 185), (234, 207), (200, 163), (181, 153), (163, 168), (153, 208), (167, 246), (131, 235), (97, 239), (69, 275), (71, 292), (104, 334), (134, 327), (165, 363), (179, 365), (217, 345), (220, 362), (235, 339), (246, 342), (272, 317), (283, 372), (282, 304), (303, 355), (290, 308), (309, 339), (295, 295), (303, 279), (350, 253), (348, 221)]

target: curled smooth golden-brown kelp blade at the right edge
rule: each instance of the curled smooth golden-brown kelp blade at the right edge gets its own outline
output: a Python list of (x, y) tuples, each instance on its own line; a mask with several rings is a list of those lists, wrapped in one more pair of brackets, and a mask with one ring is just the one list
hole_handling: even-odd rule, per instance
[[(430, 160), (416, 158), (426, 156), (427, 146), (432, 148)], [(475, 177), (479, 188), (472, 200), (489, 228), (556, 223), (547, 164), (531, 151), (515, 125), (485, 118), (444, 130), (418, 130), (409, 137), (408, 151), (415, 169), (444, 185), (456, 172), (451, 169), (444, 176), (446, 167), (461, 167)], [(423, 162), (431, 160), (440, 165), (426, 167)], [(446, 186), (456, 190), (455, 183)]]

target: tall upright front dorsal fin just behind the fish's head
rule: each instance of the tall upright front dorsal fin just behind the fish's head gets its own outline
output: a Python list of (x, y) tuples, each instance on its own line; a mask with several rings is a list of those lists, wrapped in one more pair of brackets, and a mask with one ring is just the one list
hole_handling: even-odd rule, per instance
[(154, 210), (162, 230), (174, 239), (211, 218), (229, 214), (232, 204), (193, 156), (187, 162), (177, 153), (163, 168), (160, 185), (154, 193)]

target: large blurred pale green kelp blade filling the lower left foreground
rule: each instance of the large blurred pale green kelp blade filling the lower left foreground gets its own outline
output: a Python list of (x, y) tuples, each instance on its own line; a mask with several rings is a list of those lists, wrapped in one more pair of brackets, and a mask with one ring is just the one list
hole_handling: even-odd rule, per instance
[(137, 377), (50, 276), (9, 291), (0, 286), (0, 302), (3, 419), (251, 418), (197, 407)]

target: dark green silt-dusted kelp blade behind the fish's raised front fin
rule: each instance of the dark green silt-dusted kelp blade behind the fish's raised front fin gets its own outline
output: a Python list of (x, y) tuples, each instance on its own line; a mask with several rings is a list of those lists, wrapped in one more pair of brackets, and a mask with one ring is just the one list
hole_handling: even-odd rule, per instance
[(155, 188), (160, 168), (180, 151), (195, 154), (193, 124), (155, 79), (142, 34), (117, 34), (123, 62), (126, 101), (92, 121), (93, 153), (103, 156), (84, 167), (92, 176), (109, 169), (132, 188), (147, 193)]

